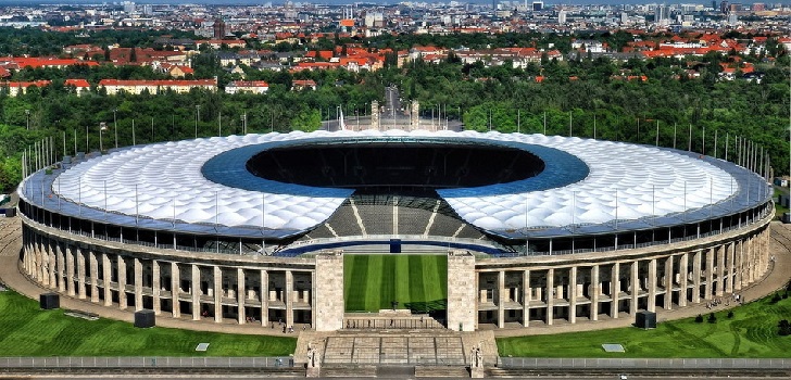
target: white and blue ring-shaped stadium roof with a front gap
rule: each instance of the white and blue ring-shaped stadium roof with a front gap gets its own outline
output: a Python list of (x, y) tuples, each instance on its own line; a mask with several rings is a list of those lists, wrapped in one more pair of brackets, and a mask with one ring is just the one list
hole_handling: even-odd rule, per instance
[(54, 180), (28, 177), (21, 193), (36, 199), (46, 186), (71, 204), (59, 202), (56, 208), (77, 215), (77, 205), (79, 215), (98, 211), (100, 220), (120, 225), (145, 219), (150, 228), (208, 233), (205, 226), (212, 226), (212, 233), (287, 237), (329, 218), (352, 190), (259, 178), (244, 169), (247, 160), (284, 144), (371, 141), (507, 145), (538, 155), (547, 168), (536, 177), (438, 191), (467, 223), (508, 238), (676, 225), (732, 214), (770, 197), (752, 172), (694, 153), (543, 135), (426, 130), (247, 135), (131, 147), (78, 163)]

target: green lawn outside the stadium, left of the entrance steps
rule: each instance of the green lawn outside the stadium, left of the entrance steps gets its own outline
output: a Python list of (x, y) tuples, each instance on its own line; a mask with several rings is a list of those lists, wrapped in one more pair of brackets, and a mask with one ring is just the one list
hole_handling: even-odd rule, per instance
[[(210, 343), (196, 352), (198, 343)], [(0, 292), (0, 356), (281, 356), (293, 338), (224, 334), (154, 327), (135, 328), (111, 319), (86, 320), (64, 311), (41, 311), (38, 302)]]

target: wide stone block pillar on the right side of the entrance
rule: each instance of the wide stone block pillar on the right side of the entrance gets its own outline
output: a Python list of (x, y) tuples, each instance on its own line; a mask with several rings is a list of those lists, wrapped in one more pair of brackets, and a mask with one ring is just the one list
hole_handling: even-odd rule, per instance
[(448, 252), (448, 328), (475, 331), (478, 320), (475, 256), (466, 251)]

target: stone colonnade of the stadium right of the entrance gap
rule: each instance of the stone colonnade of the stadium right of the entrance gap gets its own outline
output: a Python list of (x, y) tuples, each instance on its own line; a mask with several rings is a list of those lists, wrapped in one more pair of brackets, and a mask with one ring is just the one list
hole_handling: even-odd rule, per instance
[(557, 256), (551, 264), (513, 261), (507, 267), (503, 261), (478, 262), (476, 326), (576, 324), (715, 300), (734, 302), (769, 265), (768, 225), (756, 227), (687, 250)]

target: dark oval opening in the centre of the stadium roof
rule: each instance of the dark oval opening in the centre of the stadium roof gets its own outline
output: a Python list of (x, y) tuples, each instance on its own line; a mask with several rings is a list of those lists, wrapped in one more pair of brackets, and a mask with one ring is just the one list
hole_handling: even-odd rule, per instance
[(246, 167), (258, 177), (285, 183), (362, 193), (432, 193), (524, 180), (543, 172), (545, 163), (536, 154), (507, 147), (338, 143), (265, 150)]

